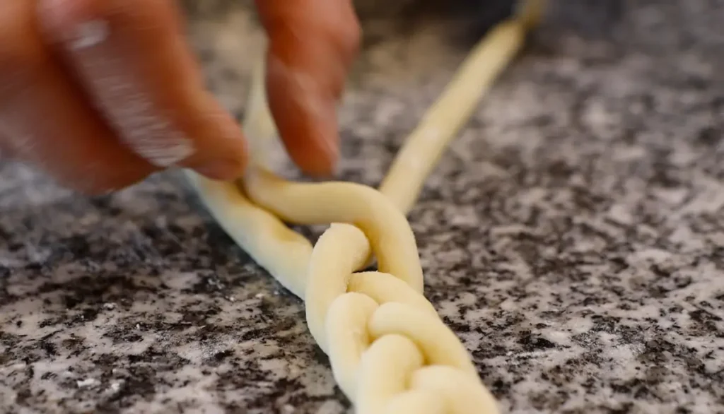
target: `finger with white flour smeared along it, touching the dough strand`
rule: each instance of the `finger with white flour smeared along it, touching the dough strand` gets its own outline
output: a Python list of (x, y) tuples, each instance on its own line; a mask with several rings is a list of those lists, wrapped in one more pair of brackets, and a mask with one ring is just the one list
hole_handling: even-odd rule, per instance
[(49, 37), (133, 151), (216, 179), (243, 172), (235, 120), (211, 96), (172, 0), (42, 0)]

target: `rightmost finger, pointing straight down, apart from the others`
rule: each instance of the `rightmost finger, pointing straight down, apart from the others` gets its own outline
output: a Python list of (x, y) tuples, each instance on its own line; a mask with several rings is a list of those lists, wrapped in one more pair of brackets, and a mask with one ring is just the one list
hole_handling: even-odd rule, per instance
[(350, 0), (257, 0), (269, 33), (269, 109), (291, 158), (329, 175), (339, 153), (337, 102), (358, 51)]

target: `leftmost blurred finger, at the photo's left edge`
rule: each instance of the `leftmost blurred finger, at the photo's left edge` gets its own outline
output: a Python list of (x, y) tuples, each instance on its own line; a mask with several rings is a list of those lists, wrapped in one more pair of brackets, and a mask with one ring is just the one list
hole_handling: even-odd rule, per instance
[(36, 22), (32, 1), (0, 2), (3, 146), (87, 193), (105, 193), (151, 174), (153, 166), (118, 143), (94, 116), (43, 47)]

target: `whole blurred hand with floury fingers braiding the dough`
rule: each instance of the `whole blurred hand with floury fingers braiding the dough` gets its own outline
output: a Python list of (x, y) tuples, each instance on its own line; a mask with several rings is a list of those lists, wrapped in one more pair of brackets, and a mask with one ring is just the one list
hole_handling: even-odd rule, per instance
[[(303, 172), (327, 176), (360, 38), (351, 0), (256, 5), (282, 141)], [(240, 177), (245, 138), (206, 90), (183, 30), (174, 0), (0, 1), (0, 153), (88, 194), (169, 166)]]

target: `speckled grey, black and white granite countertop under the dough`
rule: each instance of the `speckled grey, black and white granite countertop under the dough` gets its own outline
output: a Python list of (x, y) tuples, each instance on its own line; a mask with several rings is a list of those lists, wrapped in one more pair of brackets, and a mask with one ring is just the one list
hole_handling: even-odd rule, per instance
[[(724, 413), (724, 2), (631, 0), (603, 31), (585, 8), (429, 179), (426, 295), (506, 413)], [(253, 19), (191, 14), (241, 114)], [(367, 39), (341, 115), (340, 177), (369, 185), (464, 50), (373, 23), (397, 32)], [(348, 411), (302, 303), (177, 174), (83, 198), (4, 161), (0, 211), (1, 412)]]

